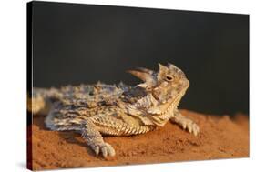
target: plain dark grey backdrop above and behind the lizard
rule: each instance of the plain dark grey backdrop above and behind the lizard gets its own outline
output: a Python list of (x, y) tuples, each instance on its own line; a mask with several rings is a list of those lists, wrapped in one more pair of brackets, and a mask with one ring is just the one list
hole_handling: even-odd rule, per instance
[(136, 85), (126, 70), (179, 66), (190, 81), (179, 107), (249, 113), (249, 15), (34, 2), (34, 86)]

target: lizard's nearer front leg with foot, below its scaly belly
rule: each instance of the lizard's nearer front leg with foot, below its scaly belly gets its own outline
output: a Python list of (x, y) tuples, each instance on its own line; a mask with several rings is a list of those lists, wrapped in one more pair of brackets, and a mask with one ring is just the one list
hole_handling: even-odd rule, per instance
[(85, 127), (82, 129), (82, 137), (86, 139), (87, 145), (97, 155), (101, 153), (103, 157), (115, 156), (115, 149), (104, 142), (103, 137), (97, 130), (97, 126), (89, 118), (85, 121)]

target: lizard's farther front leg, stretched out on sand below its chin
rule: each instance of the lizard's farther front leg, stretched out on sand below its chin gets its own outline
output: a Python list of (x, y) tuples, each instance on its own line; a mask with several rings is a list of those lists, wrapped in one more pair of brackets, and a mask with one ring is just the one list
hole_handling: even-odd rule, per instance
[(189, 133), (193, 133), (195, 136), (200, 132), (200, 127), (188, 117), (182, 116), (178, 109), (174, 110), (170, 120), (177, 123), (179, 126), (182, 126), (183, 129), (188, 129)]

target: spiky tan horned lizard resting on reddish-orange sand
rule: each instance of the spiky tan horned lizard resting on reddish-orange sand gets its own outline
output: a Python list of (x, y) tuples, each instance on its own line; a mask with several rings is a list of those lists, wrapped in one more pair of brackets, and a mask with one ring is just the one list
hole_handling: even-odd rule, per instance
[(178, 105), (189, 87), (185, 74), (172, 64), (159, 64), (159, 71), (138, 67), (129, 70), (143, 83), (127, 86), (106, 85), (33, 88), (33, 114), (41, 114), (51, 105), (46, 127), (51, 130), (75, 130), (97, 155), (115, 156), (115, 149), (102, 135), (131, 136), (144, 134), (169, 120), (197, 136), (200, 127), (179, 113)]

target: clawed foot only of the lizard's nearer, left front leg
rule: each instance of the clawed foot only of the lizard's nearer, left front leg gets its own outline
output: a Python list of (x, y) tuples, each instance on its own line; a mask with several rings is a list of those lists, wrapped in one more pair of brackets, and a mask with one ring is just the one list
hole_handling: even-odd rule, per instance
[(113, 157), (116, 155), (115, 149), (108, 143), (97, 144), (93, 146), (92, 149), (95, 151), (96, 155), (102, 154), (103, 157)]

